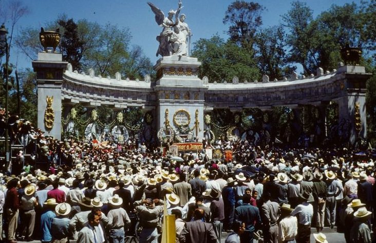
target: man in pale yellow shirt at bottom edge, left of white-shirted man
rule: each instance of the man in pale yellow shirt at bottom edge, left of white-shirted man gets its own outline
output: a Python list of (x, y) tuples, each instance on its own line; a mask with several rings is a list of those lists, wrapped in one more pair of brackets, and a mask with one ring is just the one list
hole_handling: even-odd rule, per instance
[(278, 242), (293, 242), (297, 235), (297, 218), (291, 215), (289, 204), (282, 204), (279, 208)]

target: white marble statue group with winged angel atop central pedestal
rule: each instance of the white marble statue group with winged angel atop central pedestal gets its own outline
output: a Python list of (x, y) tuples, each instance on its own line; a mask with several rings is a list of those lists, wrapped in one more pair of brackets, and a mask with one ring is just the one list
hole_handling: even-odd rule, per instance
[[(155, 20), (157, 24), (163, 27), (162, 32), (157, 36), (159, 47), (157, 50), (157, 56), (171, 56), (171, 55), (187, 55), (189, 53), (187, 45), (187, 38), (191, 36), (191, 30), (185, 21), (185, 14), (181, 14), (182, 3), (179, 1), (178, 9), (168, 11), (167, 17), (164, 16), (162, 10), (157, 8), (152, 3), (147, 3), (155, 14)], [(174, 17), (175, 15), (175, 23)]]

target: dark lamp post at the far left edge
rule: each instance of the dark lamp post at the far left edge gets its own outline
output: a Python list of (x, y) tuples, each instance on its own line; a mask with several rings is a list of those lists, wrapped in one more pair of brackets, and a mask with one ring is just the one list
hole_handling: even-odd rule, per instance
[(0, 28), (0, 40), (5, 41), (5, 158), (8, 163), (10, 160), (9, 144), (8, 144), (8, 62), (9, 62), (9, 50), (7, 41), (8, 31), (4, 24)]

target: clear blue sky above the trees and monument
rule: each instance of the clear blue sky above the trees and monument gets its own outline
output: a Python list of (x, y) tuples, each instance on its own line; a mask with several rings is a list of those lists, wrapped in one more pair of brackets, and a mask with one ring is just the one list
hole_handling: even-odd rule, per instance
[[(0, 11), (7, 11), (6, 3), (14, 0), (2, 0)], [(164, 13), (170, 9), (176, 9), (178, 0), (149, 0)], [(25, 27), (40, 29), (46, 23), (55, 21), (61, 14), (68, 18), (87, 19), (90, 22), (97, 22), (100, 25), (110, 23), (119, 28), (129, 28), (132, 38), (131, 45), (139, 45), (155, 64), (159, 57), (155, 53), (158, 49), (156, 36), (161, 32), (161, 27), (154, 19), (154, 13), (146, 4), (140, 0), (21, 0), (28, 7), (29, 13), (17, 22), (15, 33)], [(186, 15), (186, 23), (192, 30), (191, 43), (199, 38), (210, 38), (218, 33), (222, 38), (228, 36), (224, 32), (228, 29), (222, 23), (227, 7), (233, 1), (228, 0), (182, 0), (183, 9), (181, 13)], [(291, 8), (290, 0), (263, 0), (253, 1), (265, 7), (262, 13), (263, 27), (278, 25), (281, 22), (281, 15)], [(355, 2), (360, 5), (361, 0), (309, 0), (303, 1), (313, 10), (314, 16), (326, 11), (331, 5), (344, 5)], [(3, 8), (3, 9), (1, 9)], [(4, 19), (0, 19), (4, 22)], [(5, 21), (6, 27), (10, 25)], [(3, 61), (4, 62), (4, 61)], [(17, 69), (31, 68), (31, 60), (13, 45), (11, 47), (10, 62), (17, 63)], [(298, 67), (299, 69), (299, 67)]]

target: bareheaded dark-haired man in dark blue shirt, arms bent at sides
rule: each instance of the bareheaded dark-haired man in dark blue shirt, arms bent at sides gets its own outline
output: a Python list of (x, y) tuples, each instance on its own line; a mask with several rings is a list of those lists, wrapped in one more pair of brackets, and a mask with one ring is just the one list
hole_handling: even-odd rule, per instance
[(258, 208), (252, 206), (251, 194), (243, 195), (243, 204), (235, 209), (235, 220), (244, 222), (246, 229), (243, 234), (240, 235), (241, 242), (253, 242), (253, 232), (255, 232), (255, 222), (259, 226), (261, 225), (261, 217)]

